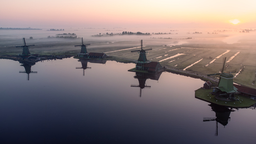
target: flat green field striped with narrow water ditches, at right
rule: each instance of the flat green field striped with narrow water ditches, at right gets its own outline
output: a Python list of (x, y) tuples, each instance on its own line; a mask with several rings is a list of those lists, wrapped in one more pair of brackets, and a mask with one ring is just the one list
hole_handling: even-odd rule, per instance
[[(216, 46), (217, 47), (217, 46)], [(255, 82), (255, 72), (256, 72), (256, 51), (250, 51), (250, 49), (210, 49), (210, 48), (191, 48), (189, 44), (181, 45), (181, 46), (146, 46), (144, 49), (152, 48), (152, 51), (147, 51), (147, 59), (150, 61), (161, 61), (162, 59), (174, 56), (178, 53), (184, 53), (178, 57), (170, 58), (166, 61), (160, 62), (162, 66), (179, 69), (182, 71), (184, 68), (190, 66), (196, 61), (200, 62), (194, 64), (193, 66), (186, 69), (186, 71), (190, 73), (197, 73), (204, 77), (207, 77), (207, 74), (218, 73), (221, 71), (223, 67), (223, 58), (227, 57), (228, 61), (231, 57), (233, 57), (237, 52), (237, 56), (235, 56), (230, 62), (225, 63), (224, 72), (230, 72), (237, 70), (236, 73), (239, 72), (240, 69), (242, 71), (234, 78), (234, 82), (240, 85), (256, 88), (253, 84)], [(139, 49), (139, 48), (137, 48)], [(170, 51), (174, 49), (173, 51)], [(116, 50), (116, 49), (112, 49)], [(228, 51), (229, 50), (229, 51)], [(139, 54), (137, 52), (130, 52), (131, 50), (124, 50), (118, 52), (107, 53), (110, 56), (126, 58), (131, 60), (137, 60), (139, 58)], [(227, 52), (228, 51), (228, 52)], [(227, 52), (227, 53), (225, 53)], [(225, 54), (223, 54), (225, 53)], [(168, 55), (167, 55), (168, 54)], [(220, 56), (223, 54), (222, 56)], [(220, 56), (219, 58), (216, 58)], [(209, 66), (206, 64), (211, 61), (215, 61)], [(232, 73), (234, 76), (236, 73)]]

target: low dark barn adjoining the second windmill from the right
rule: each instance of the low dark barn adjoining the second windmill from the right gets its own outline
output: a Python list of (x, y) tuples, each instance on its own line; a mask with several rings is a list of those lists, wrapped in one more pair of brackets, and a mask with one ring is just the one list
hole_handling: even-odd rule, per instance
[(163, 70), (159, 62), (136, 63), (136, 70), (147, 71), (149, 73), (157, 73)]

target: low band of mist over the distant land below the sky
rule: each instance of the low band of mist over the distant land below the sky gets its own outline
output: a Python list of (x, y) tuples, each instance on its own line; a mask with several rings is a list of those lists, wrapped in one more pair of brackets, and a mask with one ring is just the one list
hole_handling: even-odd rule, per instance
[[(58, 27), (56, 29), (61, 29)], [(27, 44), (35, 44), (32, 47), (39, 51), (74, 51), (79, 48), (73, 45), (80, 44), (83, 37), (84, 43), (90, 43), (88, 49), (92, 51), (107, 52), (106, 48), (118, 50), (122, 48), (138, 47), (140, 40), (143, 39), (144, 46), (188, 46), (197, 44), (200, 48), (214, 46), (214, 48), (235, 48), (240, 50), (250, 49), (255, 51), (255, 29), (243, 32), (242, 28), (131, 28), (131, 27), (113, 27), (113, 28), (93, 28), (93, 27), (70, 27), (63, 28), (65, 31), (49, 31), (50, 28), (42, 30), (1, 30), (0, 33), (0, 51), (17, 51), (16, 46), (23, 44), (22, 38), (26, 39)], [(150, 33), (150, 35), (121, 35), (122, 32), (141, 32)], [(75, 33), (77, 38), (53, 38), (56, 34)], [(112, 33), (114, 36), (107, 36), (106, 33)], [(120, 35), (118, 35), (120, 33)], [(93, 37), (101, 34), (100, 37)], [(116, 34), (116, 35), (115, 35)], [(52, 38), (47, 38), (47, 37)], [(32, 39), (29, 39), (32, 37)], [(207, 46), (208, 45), (208, 46)]]

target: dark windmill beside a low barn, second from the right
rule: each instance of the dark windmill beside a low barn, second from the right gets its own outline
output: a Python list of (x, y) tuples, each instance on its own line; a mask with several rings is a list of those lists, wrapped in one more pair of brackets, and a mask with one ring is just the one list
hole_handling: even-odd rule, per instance
[(136, 50), (136, 51), (131, 51), (131, 52), (138, 52), (140, 54), (139, 59), (137, 61), (135, 61), (136, 69), (145, 71), (144, 63), (150, 63), (150, 61), (147, 61), (147, 58), (146, 58), (147, 52), (146, 51), (150, 51), (150, 50), (152, 50), (152, 48), (144, 50), (142, 47), (143, 46), (142, 46), (142, 39), (141, 39), (141, 49)]

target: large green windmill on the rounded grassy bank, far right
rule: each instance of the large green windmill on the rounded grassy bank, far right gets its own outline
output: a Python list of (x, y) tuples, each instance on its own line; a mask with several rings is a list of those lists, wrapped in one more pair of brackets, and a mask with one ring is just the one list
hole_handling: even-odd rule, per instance
[(226, 58), (223, 58), (223, 68), (219, 73), (210, 74), (207, 76), (216, 76), (219, 75), (219, 83), (218, 88), (214, 88), (213, 94), (216, 98), (224, 98), (223, 100), (232, 101), (234, 97), (234, 93), (237, 92), (237, 88), (233, 85), (233, 75), (230, 72), (224, 72)]

